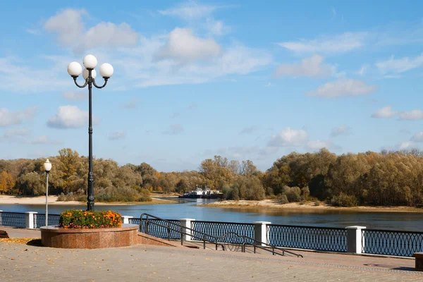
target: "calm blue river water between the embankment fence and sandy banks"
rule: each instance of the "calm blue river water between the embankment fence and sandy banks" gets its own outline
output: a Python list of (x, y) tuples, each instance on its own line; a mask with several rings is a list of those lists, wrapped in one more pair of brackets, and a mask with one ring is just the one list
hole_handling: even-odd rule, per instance
[[(95, 209), (111, 209), (122, 215), (134, 217), (140, 217), (142, 213), (147, 213), (164, 219), (190, 218), (200, 221), (243, 223), (270, 221), (275, 224), (327, 227), (359, 225), (375, 229), (423, 231), (423, 213), (417, 212), (355, 212), (336, 209), (233, 209), (197, 206), (197, 204), (210, 201), (181, 199), (178, 204), (111, 205), (95, 206)], [(49, 214), (60, 214), (65, 209), (85, 209), (85, 206), (50, 205)], [(43, 204), (0, 204), (0, 210), (44, 214), (45, 206)]]

